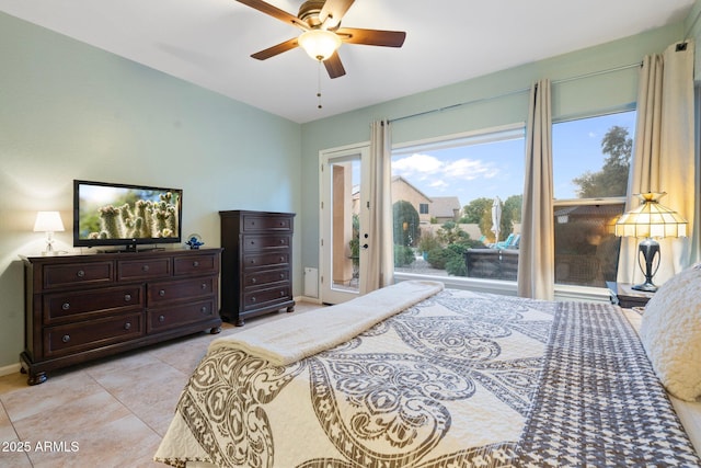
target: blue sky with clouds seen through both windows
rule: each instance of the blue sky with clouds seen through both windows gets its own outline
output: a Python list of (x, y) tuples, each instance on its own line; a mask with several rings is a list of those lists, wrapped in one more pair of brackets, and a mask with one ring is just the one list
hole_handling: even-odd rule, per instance
[[(553, 125), (555, 198), (576, 198), (574, 178), (601, 169), (608, 155), (601, 139), (613, 125), (632, 137), (635, 112)], [(525, 140), (502, 140), (456, 148), (403, 150), (392, 158), (392, 175), (401, 175), (425, 195), (457, 196), (462, 206), (480, 197), (502, 201), (524, 191)]]

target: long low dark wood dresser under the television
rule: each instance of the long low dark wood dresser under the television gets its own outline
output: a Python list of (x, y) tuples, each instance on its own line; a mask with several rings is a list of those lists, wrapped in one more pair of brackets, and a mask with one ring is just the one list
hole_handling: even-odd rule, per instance
[(221, 249), (23, 258), (28, 384), (182, 336), (218, 333)]

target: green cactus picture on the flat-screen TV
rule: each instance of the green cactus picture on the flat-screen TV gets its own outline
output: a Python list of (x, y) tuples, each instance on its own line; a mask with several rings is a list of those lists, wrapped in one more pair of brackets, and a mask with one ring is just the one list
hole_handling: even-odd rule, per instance
[(163, 239), (179, 237), (179, 191), (83, 185), (80, 239)]

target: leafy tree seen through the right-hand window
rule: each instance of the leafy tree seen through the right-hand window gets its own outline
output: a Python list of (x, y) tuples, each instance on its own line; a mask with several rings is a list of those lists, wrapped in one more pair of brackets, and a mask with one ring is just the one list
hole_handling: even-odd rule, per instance
[(601, 139), (601, 152), (609, 157), (600, 171), (587, 171), (573, 179), (579, 186), (577, 195), (581, 198), (625, 195), (632, 150), (633, 139), (629, 138), (628, 128), (618, 125), (609, 128)]

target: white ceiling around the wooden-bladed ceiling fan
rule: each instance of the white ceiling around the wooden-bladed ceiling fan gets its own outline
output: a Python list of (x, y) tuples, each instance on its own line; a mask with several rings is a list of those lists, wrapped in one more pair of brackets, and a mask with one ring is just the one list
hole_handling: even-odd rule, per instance
[[(356, 0), (343, 26), (405, 31), (404, 46), (344, 44), (347, 75), (331, 80), (322, 67), (321, 82), (301, 49), (251, 58), (300, 31), (234, 0), (0, 0), (0, 10), (304, 123), (676, 23), (693, 2)], [(269, 3), (296, 15), (302, 0)]]

